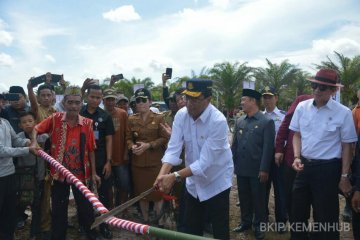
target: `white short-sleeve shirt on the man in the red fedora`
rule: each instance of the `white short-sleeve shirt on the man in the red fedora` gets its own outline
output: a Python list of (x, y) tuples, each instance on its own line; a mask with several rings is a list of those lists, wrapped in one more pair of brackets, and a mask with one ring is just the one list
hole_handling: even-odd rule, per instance
[(290, 127), (301, 134), (301, 155), (310, 159), (341, 158), (341, 143), (357, 141), (350, 109), (329, 99), (317, 108), (314, 100), (299, 103)]

